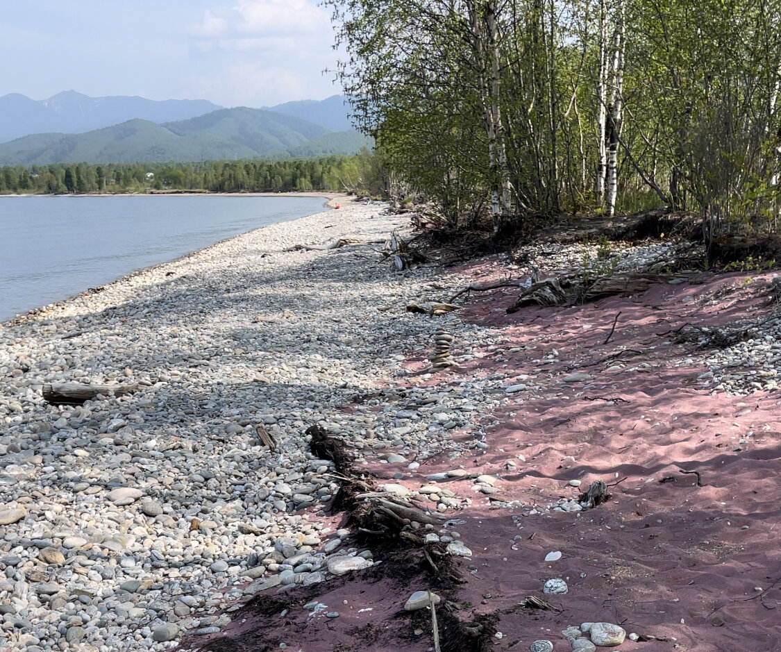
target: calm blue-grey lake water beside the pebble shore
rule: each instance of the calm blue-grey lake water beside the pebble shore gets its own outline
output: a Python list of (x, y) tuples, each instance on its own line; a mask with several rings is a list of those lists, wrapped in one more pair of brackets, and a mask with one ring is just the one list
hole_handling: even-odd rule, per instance
[(316, 197), (0, 198), (0, 322), (226, 237), (326, 210)]

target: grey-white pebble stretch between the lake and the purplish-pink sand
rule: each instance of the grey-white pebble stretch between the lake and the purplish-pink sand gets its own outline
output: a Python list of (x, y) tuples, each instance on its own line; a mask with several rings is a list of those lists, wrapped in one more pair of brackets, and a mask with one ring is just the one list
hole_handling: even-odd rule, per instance
[[(425, 335), (409, 278), (365, 264), (405, 219), (342, 203), (0, 326), (3, 652), (159, 650), (280, 569), (323, 579), (337, 484), (305, 430), (387, 442), (343, 408)], [(339, 237), (375, 244), (291, 251)], [(55, 407), (59, 382), (141, 389)]]

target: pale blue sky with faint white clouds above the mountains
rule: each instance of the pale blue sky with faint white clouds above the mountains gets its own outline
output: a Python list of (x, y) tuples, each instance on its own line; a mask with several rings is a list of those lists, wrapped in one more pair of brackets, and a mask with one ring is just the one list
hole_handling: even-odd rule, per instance
[(337, 53), (316, 0), (4, 2), (0, 95), (207, 99), (272, 106), (324, 99)]

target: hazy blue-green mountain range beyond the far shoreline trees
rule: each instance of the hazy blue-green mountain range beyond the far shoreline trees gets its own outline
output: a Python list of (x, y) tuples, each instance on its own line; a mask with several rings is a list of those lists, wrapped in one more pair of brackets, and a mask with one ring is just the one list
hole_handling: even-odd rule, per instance
[(8, 166), (319, 156), (370, 146), (351, 130), (341, 95), (270, 109), (223, 109), (205, 100), (90, 98), (69, 91), (36, 102), (10, 94), (0, 98), (0, 125), (0, 134), (23, 134), (0, 143), (0, 165)]

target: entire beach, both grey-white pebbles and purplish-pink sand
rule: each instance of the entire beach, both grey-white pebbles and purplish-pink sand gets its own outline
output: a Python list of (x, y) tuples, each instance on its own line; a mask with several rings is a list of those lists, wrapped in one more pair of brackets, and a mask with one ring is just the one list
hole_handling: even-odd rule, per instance
[[(331, 513), (312, 426), (441, 517), (422, 529), (462, 573), (449, 607), (490, 615), (495, 650), (776, 649), (772, 274), (514, 315), (505, 287), (431, 317), (407, 306), (530, 270), (398, 273), (383, 246), (408, 218), (340, 201), (0, 326), (0, 650), (429, 649), (398, 614), (438, 602), (430, 578), (369, 576), (384, 560)], [(619, 246), (615, 268), (686, 247)], [(583, 260), (527, 253), (544, 275)], [(138, 389), (54, 406), (46, 383)], [(603, 479), (611, 500), (584, 502)], [(253, 616), (262, 595), (295, 606)]]

